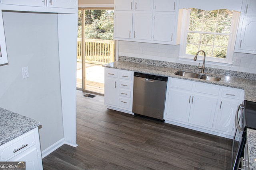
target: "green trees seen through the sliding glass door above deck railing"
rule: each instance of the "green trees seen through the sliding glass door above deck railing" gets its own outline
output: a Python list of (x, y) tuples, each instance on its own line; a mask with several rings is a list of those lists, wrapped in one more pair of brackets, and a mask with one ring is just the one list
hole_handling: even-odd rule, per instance
[[(78, 12), (78, 37), (82, 37), (82, 12)], [(85, 38), (113, 40), (114, 13), (111, 10), (85, 10)]]

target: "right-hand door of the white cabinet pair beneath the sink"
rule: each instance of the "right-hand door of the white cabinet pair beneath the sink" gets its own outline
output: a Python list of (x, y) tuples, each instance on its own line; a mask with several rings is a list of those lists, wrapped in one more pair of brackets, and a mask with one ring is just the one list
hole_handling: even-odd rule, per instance
[(212, 128), (217, 98), (193, 95), (188, 123)]

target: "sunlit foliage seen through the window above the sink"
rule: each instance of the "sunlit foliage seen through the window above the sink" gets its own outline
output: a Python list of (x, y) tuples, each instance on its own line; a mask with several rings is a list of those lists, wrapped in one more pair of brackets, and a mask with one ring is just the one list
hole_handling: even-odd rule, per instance
[(232, 14), (225, 9), (191, 9), (186, 54), (204, 50), (208, 57), (226, 58)]

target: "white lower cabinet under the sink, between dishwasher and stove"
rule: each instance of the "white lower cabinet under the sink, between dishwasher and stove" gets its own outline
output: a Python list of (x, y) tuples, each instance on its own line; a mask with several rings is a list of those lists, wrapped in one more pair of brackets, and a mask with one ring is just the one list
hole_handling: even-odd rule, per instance
[(190, 129), (231, 138), (243, 90), (168, 78), (164, 119)]

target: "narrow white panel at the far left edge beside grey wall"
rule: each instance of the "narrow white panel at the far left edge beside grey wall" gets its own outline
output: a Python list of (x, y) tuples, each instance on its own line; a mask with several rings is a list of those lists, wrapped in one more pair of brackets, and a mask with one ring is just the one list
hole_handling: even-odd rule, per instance
[(0, 65), (8, 63), (5, 35), (4, 35), (4, 23), (2, 17), (2, 10), (0, 10)]

